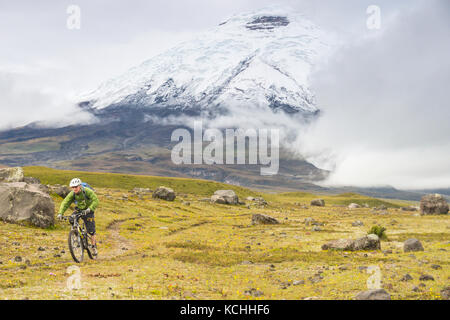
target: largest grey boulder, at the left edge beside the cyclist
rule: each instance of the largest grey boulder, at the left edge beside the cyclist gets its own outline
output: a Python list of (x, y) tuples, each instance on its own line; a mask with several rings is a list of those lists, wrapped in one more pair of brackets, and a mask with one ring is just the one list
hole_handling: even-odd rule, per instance
[(0, 184), (0, 219), (11, 223), (29, 222), (47, 228), (54, 224), (55, 204), (36, 184)]

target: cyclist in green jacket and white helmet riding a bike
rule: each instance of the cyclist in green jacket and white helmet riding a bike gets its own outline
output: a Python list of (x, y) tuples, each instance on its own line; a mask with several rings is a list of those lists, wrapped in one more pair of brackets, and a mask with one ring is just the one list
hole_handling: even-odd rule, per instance
[(76, 208), (81, 210), (81, 217), (86, 225), (87, 232), (91, 235), (93, 254), (97, 255), (94, 212), (98, 206), (98, 198), (92, 189), (84, 188), (81, 184), (82, 182), (78, 178), (74, 178), (70, 181), (70, 187), (72, 188), (72, 191), (61, 203), (58, 213), (58, 219), (62, 219), (64, 212), (66, 212), (70, 205), (75, 202), (77, 204)]

